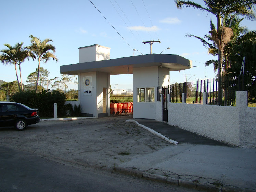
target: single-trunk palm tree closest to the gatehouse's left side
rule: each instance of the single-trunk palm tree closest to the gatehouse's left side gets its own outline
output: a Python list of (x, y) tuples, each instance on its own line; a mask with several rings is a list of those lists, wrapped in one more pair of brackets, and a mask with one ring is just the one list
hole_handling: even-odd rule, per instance
[[(31, 38), (31, 45), (26, 46), (25, 48), (29, 50), (29, 56), (34, 60), (38, 61), (38, 71), (37, 71), (37, 80), (36, 80), (36, 88), (39, 80), (39, 73), (40, 73), (40, 62), (43, 61), (46, 63), (49, 59), (56, 60), (58, 62), (58, 58), (55, 53), (55, 47), (52, 44), (48, 44), (51, 39), (44, 39), (41, 41), (39, 38), (34, 37), (33, 35), (29, 36)], [(52, 51), (52, 52), (51, 52)]]

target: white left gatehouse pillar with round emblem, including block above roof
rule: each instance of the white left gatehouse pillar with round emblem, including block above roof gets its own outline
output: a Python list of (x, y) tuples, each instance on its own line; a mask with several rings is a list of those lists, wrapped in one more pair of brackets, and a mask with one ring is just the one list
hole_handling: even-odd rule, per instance
[[(80, 47), (79, 63), (100, 61), (110, 59), (110, 48), (100, 45), (91, 45)], [(86, 86), (83, 77), (90, 77), (91, 84)], [(78, 100), (82, 107), (82, 113), (89, 116), (98, 117), (103, 114), (103, 88), (110, 92), (110, 74), (101, 72), (79, 73), (78, 75)], [(90, 94), (84, 94), (84, 90), (91, 91)], [(106, 111), (110, 111), (109, 95), (106, 95)], [(109, 113), (109, 112), (108, 112)]]

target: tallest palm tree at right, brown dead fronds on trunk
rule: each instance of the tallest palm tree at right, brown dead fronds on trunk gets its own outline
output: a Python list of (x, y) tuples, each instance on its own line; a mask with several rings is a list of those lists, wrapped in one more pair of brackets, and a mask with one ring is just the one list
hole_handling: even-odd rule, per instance
[(227, 44), (232, 35), (232, 29), (225, 27), (222, 23), (222, 18), (225, 14), (242, 15), (249, 20), (254, 20), (256, 17), (252, 11), (252, 7), (256, 4), (256, 0), (203, 0), (206, 7), (201, 6), (193, 1), (175, 0), (177, 8), (192, 7), (202, 11), (212, 13), (217, 18), (217, 30), (210, 31), (212, 39), (218, 47), (218, 105), (221, 104), (221, 77), (222, 77), (222, 63), (223, 51), (225, 44)]

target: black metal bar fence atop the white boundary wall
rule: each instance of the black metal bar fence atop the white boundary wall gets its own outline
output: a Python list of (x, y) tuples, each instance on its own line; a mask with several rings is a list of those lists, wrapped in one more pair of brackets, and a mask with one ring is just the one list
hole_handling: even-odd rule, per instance
[[(235, 92), (245, 90), (248, 91), (249, 86), (245, 86), (240, 78), (223, 78), (221, 81), (221, 105), (234, 106)], [(203, 92), (207, 92), (207, 104), (218, 105), (218, 79), (205, 79), (192, 82), (176, 83), (169, 86), (170, 102), (182, 103), (182, 93), (186, 93), (186, 103), (202, 104)], [(159, 87), (157, 91), (157, 101), (162, 88)], [(252, 88), (251, 88), (252, 89)], [(254, 86), (253, 89), (256, 89)], [(254, 96), (255, 98), (255, 96)]]

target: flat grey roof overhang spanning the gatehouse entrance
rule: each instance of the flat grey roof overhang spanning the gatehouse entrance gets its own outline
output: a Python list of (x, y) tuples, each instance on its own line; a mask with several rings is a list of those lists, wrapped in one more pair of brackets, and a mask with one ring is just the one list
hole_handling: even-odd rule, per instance
[[(87, 72), (105, 72), (110, 75), (132, 74), (133, 68), (160, 66), (169, 71), (179, 71), (192, 68), (192, 61), (179, 55), (148, 54), (102, 61), (92, 61), (60, 66), (60, 72), (68, 75), (78, 75)], [(129, 67), (129, 71), (127, 70)]]

